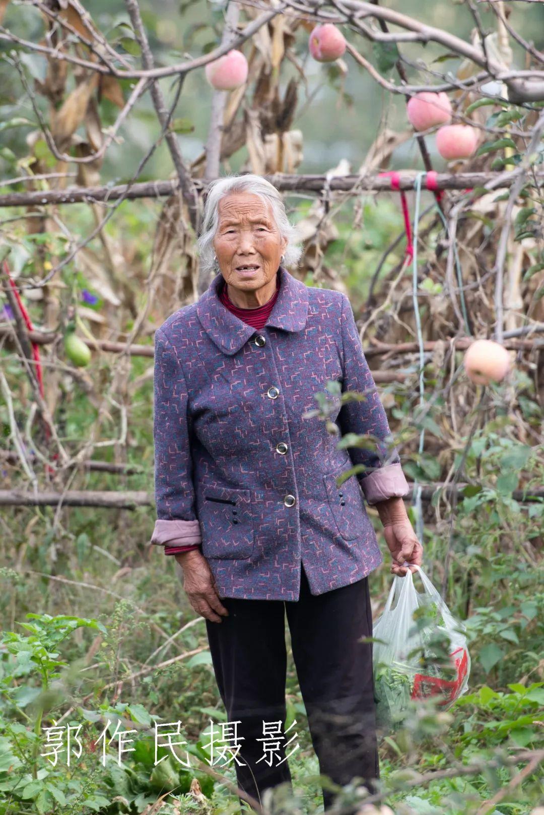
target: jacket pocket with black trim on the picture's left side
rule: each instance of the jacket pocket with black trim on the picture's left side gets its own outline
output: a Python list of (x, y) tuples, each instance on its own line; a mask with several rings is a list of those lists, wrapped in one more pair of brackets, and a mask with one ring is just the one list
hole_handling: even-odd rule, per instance
[(200, 508), (204, 557), (243, 560), (254, 545), (251, 491), (204, 487)]

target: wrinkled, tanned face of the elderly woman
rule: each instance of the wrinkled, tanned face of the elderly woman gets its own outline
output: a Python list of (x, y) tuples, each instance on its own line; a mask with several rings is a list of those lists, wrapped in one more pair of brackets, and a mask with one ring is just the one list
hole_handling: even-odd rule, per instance
[(268, 201), (252, 192), (233, 192), (219, 201), (213, 249), (227, 284), (245, 292), (261, 289), (278, 271), (286, 246)]

